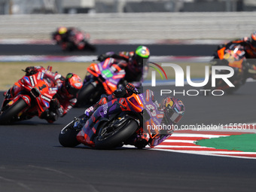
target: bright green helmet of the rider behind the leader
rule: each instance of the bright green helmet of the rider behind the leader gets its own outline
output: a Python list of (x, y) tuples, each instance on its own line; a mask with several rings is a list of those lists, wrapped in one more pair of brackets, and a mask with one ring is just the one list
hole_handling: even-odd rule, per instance
[(134, 66), (142, 68), (143, 63), (148, 62), (149, 56), (150, 56), (150, 52), (148, 47), (141, 45), (136, 48), (136, 51), (134, 52), (131, 58), (131, 62), (133, 63)]

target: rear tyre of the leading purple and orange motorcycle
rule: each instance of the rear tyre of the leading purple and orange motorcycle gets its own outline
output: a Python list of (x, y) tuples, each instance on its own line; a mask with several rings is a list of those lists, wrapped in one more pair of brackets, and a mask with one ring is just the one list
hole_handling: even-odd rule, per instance
[(67, 124), (59, 133), (59, 144), (66, 148), (74, 148), (79, 145), (77, 140), (79, 130), (73, 129), (74, 120)]

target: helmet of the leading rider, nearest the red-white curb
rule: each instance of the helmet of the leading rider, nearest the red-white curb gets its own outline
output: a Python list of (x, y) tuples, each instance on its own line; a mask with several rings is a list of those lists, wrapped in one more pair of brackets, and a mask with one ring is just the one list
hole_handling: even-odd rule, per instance
[(183, 102), (171, 96), (162, 100), (160, 108), (163, 109), (166, 119), (171, 120), (172, 123), (178, 123), (185, 111)]

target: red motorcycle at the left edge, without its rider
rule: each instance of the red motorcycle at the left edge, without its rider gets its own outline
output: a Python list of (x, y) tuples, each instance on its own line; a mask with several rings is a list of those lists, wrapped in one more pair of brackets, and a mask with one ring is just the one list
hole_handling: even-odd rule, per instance
[[(48, 67), (48, 70), (51, 70), (51, 67)], [(41, 116), (50, 108), (50, 102), (57, 90), (52, 81), (44, 79), (44, 72), (24, 75), (4, 95), (0, 124)]]

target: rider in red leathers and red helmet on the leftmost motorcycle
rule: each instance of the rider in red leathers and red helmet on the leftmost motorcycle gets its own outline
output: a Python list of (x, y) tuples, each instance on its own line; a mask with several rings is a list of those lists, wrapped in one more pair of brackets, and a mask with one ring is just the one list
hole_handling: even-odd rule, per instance
[(40, 118), (48, 123), (53, 123), (58, 117), (63, 117), (77, 102), (78, 90), (83, 86), (82, 80), (78, 75), (69, 73), (64, 78), (59, 73), (50, 72), (42, 66), (30, 66), (26, 68), (26, 75), (33, 75), (37, 72), (44, 72), (44, 81), (50, 87), (57, 87), (57, 93), (50, 102), (50, 108), (44, 111)]

